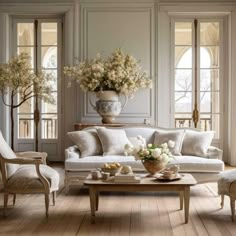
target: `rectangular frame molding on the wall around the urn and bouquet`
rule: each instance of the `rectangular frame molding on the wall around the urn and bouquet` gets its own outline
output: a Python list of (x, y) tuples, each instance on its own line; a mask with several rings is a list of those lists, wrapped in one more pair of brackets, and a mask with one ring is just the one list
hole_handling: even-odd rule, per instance
[[(156, 67), (155, 67), (155, 27), (154, 27), (154, 19), (155, 19), (155, 8), (153, 2), (150, 3), (81, 3), (80, 4), (80, 29), (81, 29), (81, 37), (80, 37), (80, 60), (84, 60), (88, 58), (88, 20), (89, 15), (98, 12), (106, 12), (106, 13), (148, 13), (149, 14), (149, 55), (150, 55), (150, 75), (151, 77), (156, 78)], [(81, 121), (91, 121), (96, 122), (98, 119), (98, 115), (95, 111), (91, 110), (91, 107), (88, 102), (88, 95), (78, 89), (78, 93), (80, 93), (79, 98), (81, 99), (80, 103), (80, 113)], [(82, 93), (82, 94), (81, 94)], [(120, 114), (119, 119), (125, 120), (126, 122), (135, 122), (137, 119), (143, 121), (144, 118), (151, 119), (152, 122), (155, 123), (155, 111), (154, 111), (154, 94), (155, 87), (149, 92), (149, 112), (135, 112), (131, 113), (129, 111), (124, 111)], [(100, 118), (99, 118), (100, 119)]]

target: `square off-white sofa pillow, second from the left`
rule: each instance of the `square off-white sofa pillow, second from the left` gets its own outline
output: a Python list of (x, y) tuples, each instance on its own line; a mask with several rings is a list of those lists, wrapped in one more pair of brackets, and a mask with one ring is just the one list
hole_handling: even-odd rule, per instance
[(125, 144), (130, 144), (124, 130), (98, 128), (97, 132), (102, 143), (103, 156), (124, 155)]

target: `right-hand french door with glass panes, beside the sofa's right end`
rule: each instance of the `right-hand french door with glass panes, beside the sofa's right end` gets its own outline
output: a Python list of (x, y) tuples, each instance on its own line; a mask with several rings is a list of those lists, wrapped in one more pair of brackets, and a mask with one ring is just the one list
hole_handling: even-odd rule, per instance
[(174, 121), (176, 127), (214, 130), (222, 137), (222, 21), (172, 21)]

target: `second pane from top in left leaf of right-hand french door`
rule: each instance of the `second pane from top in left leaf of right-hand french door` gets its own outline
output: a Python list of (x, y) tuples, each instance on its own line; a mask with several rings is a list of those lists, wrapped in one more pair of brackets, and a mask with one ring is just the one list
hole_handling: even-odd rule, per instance
[(192, 68), (192, 48), (175, 47), (175, 67)]

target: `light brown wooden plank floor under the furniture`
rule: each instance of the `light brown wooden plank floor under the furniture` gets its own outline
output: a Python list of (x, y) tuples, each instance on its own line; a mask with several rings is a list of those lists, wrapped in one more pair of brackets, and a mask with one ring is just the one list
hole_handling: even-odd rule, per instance
[[(63, 169), (56, 169), (63, 180)], [(220, 209), (216, 183), (192, 187), (188, 224), (178, 195), (170, 192), (102, 193), (96, 224), (91, 224), (88, 190), (75, 187), (66, 195), (62, 186), (48, 219), (43, 195), (18, 195), (14, 207), (10, 197), (3, 217), (0, 194), (0, 235), (236, 236), (229, 199)]]

